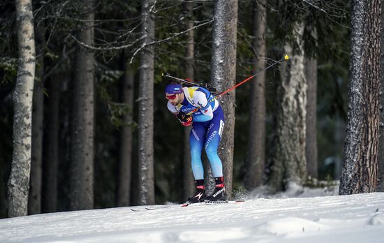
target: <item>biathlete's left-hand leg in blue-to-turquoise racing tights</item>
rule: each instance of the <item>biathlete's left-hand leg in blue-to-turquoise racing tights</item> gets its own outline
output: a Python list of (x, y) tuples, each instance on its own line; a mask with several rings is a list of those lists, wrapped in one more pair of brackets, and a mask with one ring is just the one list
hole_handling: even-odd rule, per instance
[(201, 161), (202, 145), (205, 142), (206, 128), (200, 122), (193, 122), (191, 133), (189, 134), (189, 145), (191, 147), (191, 164), (195, 180), (204, 179), (204, 167)]

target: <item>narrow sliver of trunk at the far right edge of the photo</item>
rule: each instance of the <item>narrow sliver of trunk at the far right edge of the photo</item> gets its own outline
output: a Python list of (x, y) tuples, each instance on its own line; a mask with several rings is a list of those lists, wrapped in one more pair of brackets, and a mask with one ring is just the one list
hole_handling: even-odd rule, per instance
[(381, 31), (380, 31), (380, 129), (378, 141), (378, 184), (376, 191), (384, 191), (384, 1), (381, 1)]

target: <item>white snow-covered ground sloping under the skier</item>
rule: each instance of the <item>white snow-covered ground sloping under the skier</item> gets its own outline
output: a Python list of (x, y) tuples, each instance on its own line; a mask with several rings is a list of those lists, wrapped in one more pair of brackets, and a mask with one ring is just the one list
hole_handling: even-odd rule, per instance
[[(314, 193), (293, 189), (279, 195), (284, 198), (225, 205), (136, 206), (1, 219), (0, 242), (383, 242), (384, 193), (305, 197)], [(292, 195), (304, 198), (286, 198)]]

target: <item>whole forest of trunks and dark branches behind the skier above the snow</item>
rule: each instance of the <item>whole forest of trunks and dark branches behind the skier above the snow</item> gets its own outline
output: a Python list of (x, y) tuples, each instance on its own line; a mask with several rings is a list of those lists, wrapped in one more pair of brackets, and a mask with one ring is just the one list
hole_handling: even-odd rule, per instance
[(253, 76), (218, 98), (228, 199), (294, 184), (384, 191), (382, 8), (1, 1), (0, 219), (184, 202), (191, 126), (167, 108), (169, 76), (218, 94)]

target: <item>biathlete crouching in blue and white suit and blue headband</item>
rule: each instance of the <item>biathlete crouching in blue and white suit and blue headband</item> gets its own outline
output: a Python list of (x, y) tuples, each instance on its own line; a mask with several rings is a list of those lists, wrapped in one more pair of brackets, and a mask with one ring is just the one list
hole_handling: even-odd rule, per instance
[[(214, 100), (214, 96), (203, 87), (182, 87), (182, 84), (172, 80), (165, 87), (165, 98), (168, 99), (168, 110), (176, 115), (184, 126), (192, 124), (189, 143), (196, 193), (188, 198), (188, 202), (226, 200), (223, 165), (217, 154), (224, 126), (223, 110), (219, 102)], [(196, 112), (187, 115), (196, 108), (198, 108)], [(201, 161), (202, 147), (205, 148), (215, 179), (215, 189), (211, 196), (205, 193), (204, 168)]]

